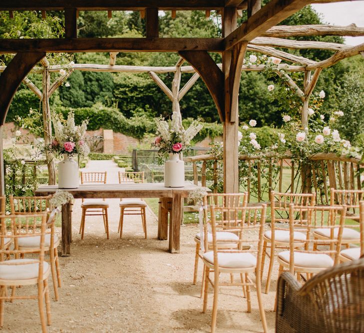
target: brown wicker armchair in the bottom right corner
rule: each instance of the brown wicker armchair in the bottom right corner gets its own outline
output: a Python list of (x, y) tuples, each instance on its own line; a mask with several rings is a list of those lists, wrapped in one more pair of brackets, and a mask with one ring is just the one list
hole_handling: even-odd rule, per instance
[(303, 287), (285, 272), (277, 298), (276, 332), (364, 332), (364, 259), (327, 269)]

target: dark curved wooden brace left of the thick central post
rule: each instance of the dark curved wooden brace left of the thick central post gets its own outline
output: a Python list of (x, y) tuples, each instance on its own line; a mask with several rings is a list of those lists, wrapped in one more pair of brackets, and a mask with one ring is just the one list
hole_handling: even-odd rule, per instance
[(223, 121), (224, 75), (221, 69), (206, 51), (179, 51), (178, 54), (200, 74), (215, 102), (220, 121)]

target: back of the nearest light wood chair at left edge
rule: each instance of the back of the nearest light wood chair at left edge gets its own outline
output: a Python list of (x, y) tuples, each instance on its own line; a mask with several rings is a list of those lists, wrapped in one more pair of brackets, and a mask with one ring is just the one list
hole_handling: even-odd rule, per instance
[[(47, 214), (22, 214), (22, 215), (0, 215), (0, 265), (17, 265), (17, 262), (6, 261), (10, 255), (14, 255), (15, 259), (19, 259), (21, 255), (26, 253), (38, 253), (38, 260), (31, 260), (26, 264), (34, 264), (39, 261), (38, 279), (43, 276), (44, 263), (44, 241), (47, 229)], [(20, 238), (35, 237), (40, 239), (39, 249), (21, 248), (19, 249), (18, 241)], [(11, 239), (13, 246), (4, 248), (4, 243)], [(24, 264), (24, 263), (21, 263)]]

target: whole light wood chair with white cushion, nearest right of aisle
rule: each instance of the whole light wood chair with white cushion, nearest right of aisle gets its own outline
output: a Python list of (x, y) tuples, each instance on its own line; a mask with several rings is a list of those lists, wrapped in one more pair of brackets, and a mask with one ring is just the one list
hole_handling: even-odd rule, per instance
[[(246, 293), (248, 312), (251, 312), (251, 287), (254, 286), (257, 290), (257, 298), (260, 316), (262, 320), (264, 332), (268, 332), (266, 317), (263, 306), (262, 291), (261, 291), (261, 264), (263, 253), (263, 234), (266, 219), (267, 206), (253, 207), (231, 207), (234, 210), (235, 221), (225, 224), (225, 229), (230, 232), (237, 232), (239, 240), (236, 242), (238, 247), (236, 249), (221, 249), (220, 244), (226, 242), (231, 244), (231, 239), (217, 238), (217, 223), (216, 214), (219, 212), (223, 214), (224, 208), (215, 207), (211, 205), (211, 234), (212, 234), (212, 251), (206, 252), (203, 255), (203, 262), (206, 265), (205, 277), (205, 290), (203, 301), (203, 312), (207, 310), (207, 297), (208, 287), (211, 284), (214, 288), (214, 302), (212, 308), (212, 323), (211, 332), (215, 332), (216, 319), (217, 319), (217, 304), (220, 286), (241, 286), (243, 293)], [(258, 239), (252, 236), (257, 234), (259, 230)], [(204, 243), (208, 247), (208, 229), (204, 228)], [(249, 243), (249, 250), (242, 250), (243, 244)], [(214, 279), (210, 279), (210, 273), (214, 273)], [(223, 273), (239, 274), (240, 282), (221, 283), (220, 275)], [(251, 279), (250, 275), (255, 274), (255, 282)]]

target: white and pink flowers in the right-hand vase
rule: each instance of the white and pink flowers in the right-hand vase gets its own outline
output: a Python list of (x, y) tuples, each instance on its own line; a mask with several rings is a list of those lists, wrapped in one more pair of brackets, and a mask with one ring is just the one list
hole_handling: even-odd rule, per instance
[(202, 129), (202, 124), (198, 120), (192, 121), (187, 129), (182, 126), (180, 120), (177, 114), (172, 115), (170, 124), (163, 117), (156, 119), (157, 137), (151, 146), (158, 148), (160, 156), (181, 153)]

